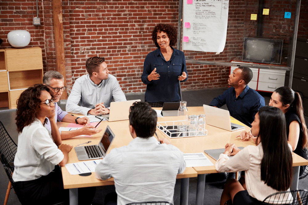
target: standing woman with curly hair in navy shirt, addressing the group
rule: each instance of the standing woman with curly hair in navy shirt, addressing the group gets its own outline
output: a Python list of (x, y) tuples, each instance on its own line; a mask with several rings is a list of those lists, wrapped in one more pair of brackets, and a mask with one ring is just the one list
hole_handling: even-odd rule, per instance
[(177, 31), (169, 24), (158, 24), (152, 31), (157, 49), (144, 60), (141, 80), (147, 85), (145, 101), (151, 107), (162, 107), (164, 102), (178, 102), (179, 81), (187, 81), (185, 56), (174, 49)]

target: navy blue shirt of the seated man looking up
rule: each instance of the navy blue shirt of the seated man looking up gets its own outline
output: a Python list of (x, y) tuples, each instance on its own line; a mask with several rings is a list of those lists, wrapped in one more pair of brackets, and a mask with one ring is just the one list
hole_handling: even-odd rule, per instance
[(238, 97), (236, 97), (234, 88), (231, 87), (222, 95), (215, 97), (209, 105), (220, 108), (224, 104), (227, 105), (231, 116), (251, 127), (254, 116), (261, 107), (265, 106), (265, 101), (257, 91), (246, 85)]

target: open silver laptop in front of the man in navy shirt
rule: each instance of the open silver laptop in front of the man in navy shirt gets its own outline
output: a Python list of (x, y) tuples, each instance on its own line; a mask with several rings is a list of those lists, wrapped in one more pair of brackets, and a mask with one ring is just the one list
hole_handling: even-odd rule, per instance
[(206, 123), (217, 128), (228, 131), (244, 129), (245, 126), (231, 123), (230, 113), (228, 110), (215, 108), (209, 105), (203, 105)]

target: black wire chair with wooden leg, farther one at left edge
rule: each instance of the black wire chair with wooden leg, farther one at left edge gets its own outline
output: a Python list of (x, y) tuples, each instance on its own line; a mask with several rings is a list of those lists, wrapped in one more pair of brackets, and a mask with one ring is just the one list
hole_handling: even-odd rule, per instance
[[(3, 154), (6, 161), (9, 163), (10, 169), (14, 171), (14, 157), (17, 152), (17, 145), (7, 133), (5, 127), (0, 121), (0, 154)], [(7, 186), (7, 191), (4, 199), (4, 205), (6, 205), (7, 200), (9, 199), (11, 190), (11, 182)]]

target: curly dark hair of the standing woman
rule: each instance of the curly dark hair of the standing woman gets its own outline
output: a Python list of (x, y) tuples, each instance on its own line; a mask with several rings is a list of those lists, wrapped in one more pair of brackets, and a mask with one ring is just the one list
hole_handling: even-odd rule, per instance
[(157, 32), (165, 32), (170, 40), (170, 46), (177, 43), (177, 31), (176, 28), (169, 24), (159, 23), (152, 31), (152, 41), (155, 43), (156, 47), (159, 48), (157, 43)]

